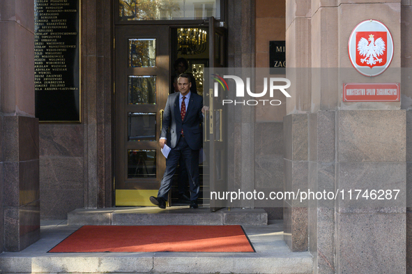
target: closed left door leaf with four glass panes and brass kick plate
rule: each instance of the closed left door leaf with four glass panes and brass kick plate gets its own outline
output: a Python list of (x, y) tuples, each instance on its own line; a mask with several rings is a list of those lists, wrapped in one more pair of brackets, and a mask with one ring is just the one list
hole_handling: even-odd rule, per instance
[(158, 140), (169, 95), (169, 26), (116, 26), (116, 206), (151, 206), (163, 173)]

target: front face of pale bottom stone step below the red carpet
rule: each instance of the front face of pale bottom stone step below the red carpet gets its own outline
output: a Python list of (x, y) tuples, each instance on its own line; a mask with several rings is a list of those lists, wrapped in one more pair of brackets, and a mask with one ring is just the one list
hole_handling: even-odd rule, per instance
[(1, 273), (312, 273), (307, 252), (291, 257), (248, 254), (61, 254), (2, 258)]

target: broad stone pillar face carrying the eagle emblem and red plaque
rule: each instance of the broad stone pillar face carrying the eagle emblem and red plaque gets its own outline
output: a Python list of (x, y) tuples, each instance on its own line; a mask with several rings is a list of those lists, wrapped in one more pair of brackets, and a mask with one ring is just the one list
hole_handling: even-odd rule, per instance
[[(361, 83), (370, 79), (351, 73), (353, 68), (347, 53), (351, 31), (356, 24), (367, 19), (386, 24), (394, 40), (390, 69), (370, 80), (376, 83), (400, 82), (399, 73), (393, 72), (401, 67), (400, 1), (341, 3), (338, 15), (341, 70), (338, 86), (344, 82)], [(397, 189), (400, 190), (399, 198), (402, 198), (406, 191), (406, 114), (400, 110), (400, 103), (348, 103), (339, 96), (338, 107), (335, 188)], [(372, 201), (366, 200), (359, 205), (349, 206), (349, 203), (352, 202), (341, 200), (335, 208), (337, 273), (405, 273), (405, 208), (391, 206), (393, 200), (388, 201), (388, 206), (381, 207), (374, 207)]]

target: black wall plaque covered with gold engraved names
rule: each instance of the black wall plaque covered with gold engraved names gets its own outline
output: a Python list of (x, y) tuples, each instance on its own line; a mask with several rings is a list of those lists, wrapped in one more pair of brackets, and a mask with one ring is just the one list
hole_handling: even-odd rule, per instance
[(34, 86), (39, 121), (80, 121), (79, 0), (34, 0)]

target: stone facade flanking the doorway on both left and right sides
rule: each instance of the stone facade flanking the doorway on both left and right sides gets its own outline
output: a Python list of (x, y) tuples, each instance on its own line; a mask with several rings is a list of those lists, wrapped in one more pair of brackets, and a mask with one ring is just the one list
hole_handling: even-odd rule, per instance
[[(314, 256), (314, 273), (412, 273), (412, 80), (404, 70), (412, 67), (411, 5), (227, 1), (229, 67), (267, 68), (268, 41), (286, 40), (287, 66), (296, 68), (287, 75), (294, 84), (286, 105), (227, 109), (229, 138), (235, 141), (227, 151), (233, 159), (229, 188), (335, 191), (379, 185), (401, 190), (407, 201), (408, 206), (354, 210), (347, 201), (285, 200), (282, 209), (266, 208), (272, 218), (284, 218), (289, 248)], [(33, 1), (0, 2), (1, 250), (22, 250), (37, 241), (40, 216), (65, 219), (75, 208), (112, 206), (112, 16), (111, 1), (82, 1), (82, 123), (39, 126), (34, 69), (26, 62), (34, 52)], [(365, 81), (353, 73), (347, 41), (353, 27), (370, 18), (390, 29), (390, 68), (403, 69), (374, 80), (402, 82), (402, 105), (342, 101), (342, 83)], [(369, 141), (376, 136), (381, 141)]]

